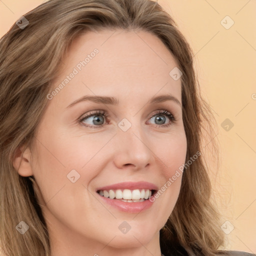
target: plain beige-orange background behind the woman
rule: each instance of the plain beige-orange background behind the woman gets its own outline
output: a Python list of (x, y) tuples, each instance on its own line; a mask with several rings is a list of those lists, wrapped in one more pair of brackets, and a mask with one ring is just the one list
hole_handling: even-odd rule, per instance
[[(229, 221), (222, 230), (228, 233), (234, 227), (225, 234), (225, 248), (256, 253), (256, 1), (158, 2), (172, 15), (194, 51), (203, 96), (218, 123), (215, 134), (221, 145), (221, 165), (217, 178), (211, 174), (211, 179), (219, 194), (222, 223)], [(0, 0), (0, 36), (40, 3), (42, 0)], [(224, 28), (232, 20), (234, 24)], [(226, 118), (234, 124), (228, 131), (222, 128), (226, 124), (221, 126)]]

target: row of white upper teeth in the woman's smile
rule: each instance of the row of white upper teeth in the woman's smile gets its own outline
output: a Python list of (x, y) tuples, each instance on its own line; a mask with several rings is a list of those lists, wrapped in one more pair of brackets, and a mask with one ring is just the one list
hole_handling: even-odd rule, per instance
[(104, 197), (109, 197), (110, 199), (140, 199), (140, 198), (144, 198), (147, 199), (148, 197), (151, 196), (152, 191), (149, 189), (134, 189), (134, 190), (130, 190), (130, 189), (116, 189), (116, 190), (99, 190), (99, 194), (104, 196)]

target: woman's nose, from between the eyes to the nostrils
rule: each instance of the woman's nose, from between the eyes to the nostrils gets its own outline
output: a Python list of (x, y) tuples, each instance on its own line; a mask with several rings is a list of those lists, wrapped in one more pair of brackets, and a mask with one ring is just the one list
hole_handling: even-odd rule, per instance
[(131, 164), (136, 168), (143, 168), (153, 160), (153, 153), (149, 148), (149, 141), (141, 127), (141, 123), (131, 123), (123, 118), (118, 123), (116, 134), (118, 146), (115, 151), (115, 164), (121, 168), (123, 165)]

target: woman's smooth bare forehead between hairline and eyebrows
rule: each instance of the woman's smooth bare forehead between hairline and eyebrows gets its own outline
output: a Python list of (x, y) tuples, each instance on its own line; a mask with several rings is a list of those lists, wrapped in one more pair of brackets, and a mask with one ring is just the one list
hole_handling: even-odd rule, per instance
[(149, 32), (88, 31), (73, 40), (54, 85), (74, 72), (61, 91), (62, 96), (69, 96), (69, 101), (81, 93), (115, 94), (121, 98), (131, 92), (151, 97), (159, 90), (180, 99), (180, 79), (175, 81), (169, 75), (176, 66), (170, 51)]

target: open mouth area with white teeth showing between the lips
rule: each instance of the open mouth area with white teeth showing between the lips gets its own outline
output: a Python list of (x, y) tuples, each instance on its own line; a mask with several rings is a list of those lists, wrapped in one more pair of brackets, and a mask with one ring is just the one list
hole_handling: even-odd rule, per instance
[(124, 202), (142, 202), (148, 200), (150, 196), (154, 195), (156, 190), (150, 189), (109, 189), (97, 190), (97, 193), (103, 197), (120, 200)]

